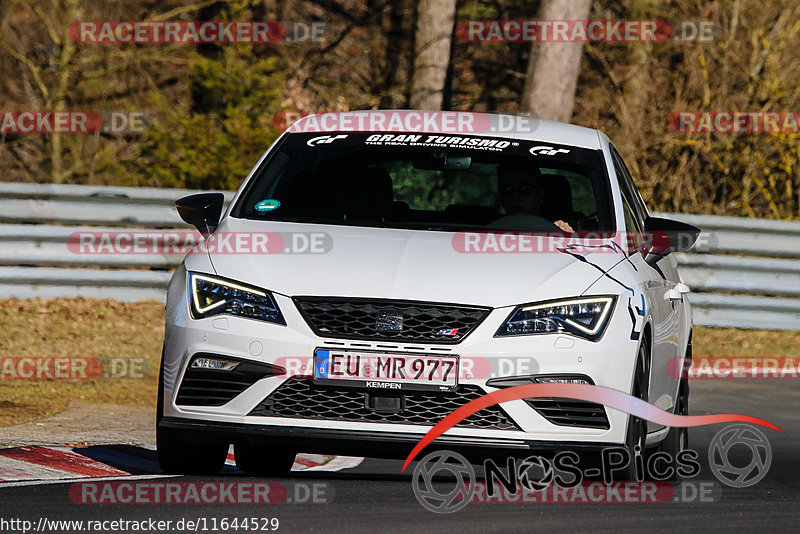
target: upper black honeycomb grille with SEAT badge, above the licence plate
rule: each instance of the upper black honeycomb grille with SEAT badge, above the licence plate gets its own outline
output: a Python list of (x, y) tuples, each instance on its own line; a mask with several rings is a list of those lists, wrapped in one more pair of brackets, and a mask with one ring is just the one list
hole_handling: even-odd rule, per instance
[(382, 299), (295, 297), (318, 336), (372, 341), (458, 343), (490, 308)]

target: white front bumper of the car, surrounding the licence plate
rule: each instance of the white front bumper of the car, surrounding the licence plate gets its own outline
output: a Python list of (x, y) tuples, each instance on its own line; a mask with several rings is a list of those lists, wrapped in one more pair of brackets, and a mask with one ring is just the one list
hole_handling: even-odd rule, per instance
[[(289, 373), (309, 374), (317, 348), (413, 351), (421, 354), (455, 354), (464, 361), (482, 362), (474, 375), (459, 382), (492, 392), (486, 385), (495, 377), (574, 374), (591, 378), (596, 385), (630, 391), (637, 342), (630, 339), (627, 310), (619, 309), (622, 299), (600, 341), (574, 336), (548, 334), (495, 338), (494, 333), (508, 317), (512, 307), (498, 308), (456, 345), (386, 343), (341, 340), (317, 336), (300, 315), (289, 297), (275, 294), (287, 325), (274, 325), (233, 316), (214, 316), (194, 320), (189, 315), (185, 278), (179, 270), (170, 288), (164, 356), (164, 425), (183, 429), (206, 428), (215, 436), (261, 436), (274, 440), (296, 441), (297, 446), (325, 445), (325, 451), (376, 456), (384, 445), (397, 444), (407, 454), (432, 425), (369, 421), (341, 421), (325, 418), (293, 418), (251, 415), (265, 398), (287, 380), (268, 376), (256, 381), (230, 402), (220, 406), (187, 406), (176, 403), (177, 393), (193, 355), (211, 353), (222, 357), (272, 364)], [(480, 369), (478, 369), (480, 368)], [(606, 408), (609, 428), (561, 426), (550, 422), (523, 400), (502, 404), (516, 429), (496, 430), (454, 427), (437, 438), (436, 444), (457, 444), (467, 448), (530, 450), (547, 447), (603, 447), (625, 441), (627, 414)], [(177, 426), (176, 426), (177, 425)], [(323, 439), (324, 437), (324, 439)], [(363, 450), (356, 444), (366, 443)], [(311, 452), (311, 451), (309, 451)]]

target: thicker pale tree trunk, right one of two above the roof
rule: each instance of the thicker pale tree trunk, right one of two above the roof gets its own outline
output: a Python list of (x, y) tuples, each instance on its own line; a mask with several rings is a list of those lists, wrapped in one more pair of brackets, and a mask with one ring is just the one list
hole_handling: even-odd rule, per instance
[[(586, 20), (592, 0), (542, 0), (540, 20)], [(569, 122), (583, 43), (534, 42), (522, 92), (522, 110), (534, 117)]]

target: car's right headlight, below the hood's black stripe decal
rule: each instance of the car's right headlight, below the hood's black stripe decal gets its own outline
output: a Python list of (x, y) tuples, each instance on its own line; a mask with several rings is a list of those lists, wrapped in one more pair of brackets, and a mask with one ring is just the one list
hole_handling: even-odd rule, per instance
[(497, 336), (565, 332), (595, 341), (603, 335), (616, 297), (574, 299), (524, 304), (506, 320)]

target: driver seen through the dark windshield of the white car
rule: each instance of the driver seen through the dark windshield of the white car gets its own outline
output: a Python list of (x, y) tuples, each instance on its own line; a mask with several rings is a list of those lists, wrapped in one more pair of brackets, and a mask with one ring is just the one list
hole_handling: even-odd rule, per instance
[[(509, 216), (535, 215), (542, 217), (542, 205), (547, 197), (547, 177), (538, 167), (500, 165), (497, 168), (500, 202)], [(553, 224), (565, 232), (574, 232), (566, 221)]]

